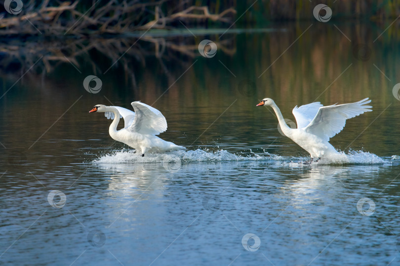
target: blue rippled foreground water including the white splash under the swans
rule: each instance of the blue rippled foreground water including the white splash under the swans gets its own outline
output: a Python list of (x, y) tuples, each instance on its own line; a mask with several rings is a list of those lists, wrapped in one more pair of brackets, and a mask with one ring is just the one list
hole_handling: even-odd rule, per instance
[[(8, 249), (1, 260), (14, 265), (396, 265), (400, 227), (394, 190), (400, 161), (365, 163), (376, 156), (357, 156), (364, 163), (343, 166), (223, 150), (148, 158), (116, 151), (52, 172), (32, 171), (37, 180), (26, 183), (13, 183), (9, 175), (3, 180), (9, 186), (1, 191), (0, 227), (1, 243), (9, 247), (2, 245)], [(47, 200), (54, 189), (66, 195), (62, 207)], [(372, 215), (358, 211), (361, 198), (376, 204)], [(260, 240), (255, 251), (242, 245), (247, 233)], [(251, 247), (254, 239), (248, 243)], [(29, 261), (18, 254), (29, 254)]]

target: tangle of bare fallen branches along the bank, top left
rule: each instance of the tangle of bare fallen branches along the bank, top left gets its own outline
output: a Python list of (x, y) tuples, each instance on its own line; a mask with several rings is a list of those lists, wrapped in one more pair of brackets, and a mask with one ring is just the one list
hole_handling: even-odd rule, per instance
[[(207, 6), (190, 6), (167, 14), (161, 5), (168, 0), (137, 3), (137, 0), (110, 0), (103, 6), (93, 5), (80, 12), (79, 0), (48, 6), (44, 0), (39, 7), (27, 6), (18, 15), (7, 15), (0, 20), (1, 35), (88, 35), (120, 34), (138, 30), (167, 29), (180, 20), (211, 20), (231, 22), (236, 10), (228, 8), (219, 14), (211, 14)], [(151, 11), (154, 8), (154, 13)], [(27, 10), (25, 12), (25, 10)], [(25, 12), (25, 13), (24, 13)], [(164, 14), (166, 13), (166, 14)], [(152, 20), (152, 18), (154, 18)]]

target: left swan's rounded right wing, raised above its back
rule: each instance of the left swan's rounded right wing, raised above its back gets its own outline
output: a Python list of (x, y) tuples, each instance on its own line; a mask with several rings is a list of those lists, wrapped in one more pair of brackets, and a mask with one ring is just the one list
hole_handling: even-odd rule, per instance
[(136, 115), (128, 128), (129, 131), (152, 135), (166, 131), (166, 120), (159, 110), (140, 101), (134, 101), (131, 104)]

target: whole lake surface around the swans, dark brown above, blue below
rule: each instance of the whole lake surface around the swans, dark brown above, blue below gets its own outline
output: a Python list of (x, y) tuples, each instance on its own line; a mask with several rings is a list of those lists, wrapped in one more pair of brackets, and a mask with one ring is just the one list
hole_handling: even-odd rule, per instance
[[(399, 265), (400, 36), (389, 24), (10, 40), (1, 264)], [(200, 55), (203, 39), (215, 56)], [(84, 90), (88, 75), (99, 93)], [(313, 101), (369, 97), (373, 112), (331, 139), (346, 163), (305, 165), (271, 109), (255, 107), (265, 97), (290, 120)], [(187, 150), (138, 157), (88, 113), (133, 100), (159, 109), (160, 137)]]

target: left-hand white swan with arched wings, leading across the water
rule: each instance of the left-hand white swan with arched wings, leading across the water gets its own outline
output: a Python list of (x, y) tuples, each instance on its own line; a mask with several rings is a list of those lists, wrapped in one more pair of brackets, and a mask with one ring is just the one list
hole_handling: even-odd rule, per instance
[[(147, 152), (165, 152), (184, 149), (159, 138), (158, 135), (167, 129), (165, 117), (159, 110), (140, 101), (131, 103), (134, 112), (120, 106), (106, 106), (97, 104), (89, 111), (105, 112), (108, 119), (114, 119), (110, 125), (110, 136), (134, 148), (144, 156)], [(120, 118), (123, 118), (124, 128), (117, 131)]]

